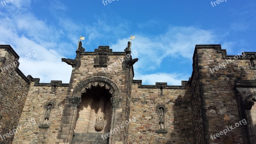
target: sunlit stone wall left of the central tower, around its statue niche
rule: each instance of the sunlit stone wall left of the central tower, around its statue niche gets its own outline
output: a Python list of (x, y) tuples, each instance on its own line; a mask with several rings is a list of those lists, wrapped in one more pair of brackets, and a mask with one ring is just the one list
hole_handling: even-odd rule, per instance
[[(15, 134), (13, 144), (55, 143), (57, 138), (68, 87), (57, 86), (55, 92), (52, 92), (51, 84), (48, 84), (49, 86), (40, 86), (40, 84), (34, 86), (36, 83), (31, 83), (19, 121), (21, 129)], [(51, 110), (48, 121), (49, 128), (40, 129), (39, 125), (44, 123), (44, 105), (51, 101), (54, 103), (54, 108)], [(26, 126), (26, 122), (28, 123), (29, 120), (32, 122)]]

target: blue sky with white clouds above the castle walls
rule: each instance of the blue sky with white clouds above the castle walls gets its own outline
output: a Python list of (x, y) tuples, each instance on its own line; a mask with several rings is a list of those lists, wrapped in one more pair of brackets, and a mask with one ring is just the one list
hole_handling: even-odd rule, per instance
[(135, 35), (134, 79), (181, 85), (191, 76), (196, 44), (221, 44), (230, 55), (255, 51), (255, 0), (214, 7), (211, 1), (2, 0), (0, 44), (10, 44), (21, 58), (36, 52), (20, 63), (26, 76), (69, 83), (72, 68), (61, 58), (75, 58), (80, 35), (86, 51), (109, 45), (114, 52), (123, 52)]

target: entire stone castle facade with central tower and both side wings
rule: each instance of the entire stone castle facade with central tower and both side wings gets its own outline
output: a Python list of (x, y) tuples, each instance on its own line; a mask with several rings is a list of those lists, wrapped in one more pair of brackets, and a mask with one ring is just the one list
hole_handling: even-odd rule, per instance
[(62, 59), (69, 84), (24, 76), (0, 45), (0, 143), (256, 143), (256, 52), (196, 45), (188, 81), (142, 85), (129, 45), (84, 52), (79, 43), (75, 59)]

